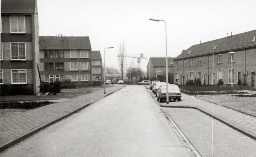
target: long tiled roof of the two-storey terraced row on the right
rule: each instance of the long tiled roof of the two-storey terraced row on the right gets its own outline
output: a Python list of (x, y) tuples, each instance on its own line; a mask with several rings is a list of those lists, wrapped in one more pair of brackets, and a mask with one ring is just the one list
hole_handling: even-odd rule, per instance
[[(193, 45), (187, 50), (183, 50), (182, 53), (174, 59), (174, 61), (177, 59), (212, 54), (213, 52), (220, 53), (255, 47), (256, 41), (252, 41), (253, 37), (256, 37), (256, 30)], [(214, 49), (215, 45), (217, 46), (216, 49)]]

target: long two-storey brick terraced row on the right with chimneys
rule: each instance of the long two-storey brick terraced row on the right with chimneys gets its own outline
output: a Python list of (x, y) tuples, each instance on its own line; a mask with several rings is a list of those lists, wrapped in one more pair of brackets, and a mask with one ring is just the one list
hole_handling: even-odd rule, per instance
[[(255, 85), (256, 30), (193, 45), (174, 59), (174, 82), (200, 78), (202, 84)], [(229, 55), (229, 52), (235, 52)], [(233, 63), (233, 69), (231, 68)], [(233, 80), (232, 80), (233, 73)], [(240, 82), (239, 81), (239, 82)]]

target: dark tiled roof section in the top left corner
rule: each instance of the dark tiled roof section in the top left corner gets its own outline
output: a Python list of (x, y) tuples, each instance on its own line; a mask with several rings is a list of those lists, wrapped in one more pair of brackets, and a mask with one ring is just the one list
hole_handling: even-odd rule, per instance
[(36, 0), (1, 0), (2, 14), (35, 14)]

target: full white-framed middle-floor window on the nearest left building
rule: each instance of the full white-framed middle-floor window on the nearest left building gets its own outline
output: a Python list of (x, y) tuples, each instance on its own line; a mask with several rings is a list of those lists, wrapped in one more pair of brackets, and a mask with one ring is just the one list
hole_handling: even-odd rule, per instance
[(11, 43), (11, 60), (26, 60), (26, 43)]

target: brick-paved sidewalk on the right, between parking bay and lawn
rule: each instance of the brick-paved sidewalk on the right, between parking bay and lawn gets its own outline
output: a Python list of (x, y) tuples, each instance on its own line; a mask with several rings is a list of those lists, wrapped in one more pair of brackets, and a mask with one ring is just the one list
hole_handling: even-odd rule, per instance
[[(148, 92), (156, 99), (152, 90), (147, 88)], [(217, 96), (215, 97), (217, 98)], [(196, 108), (209, 116), (214, 116), (220, 122), (234, 128), (235, 130), (244, 133), (245, 135), (256, 139), (256, 117), (231, 110), (204, 100), (198, 99), (195, 96), (189, 96), (182, 93), (182, 101), (180, 102), (166, 102), (160, 103), (161, 107), (174, 107), (174, 108)]]

